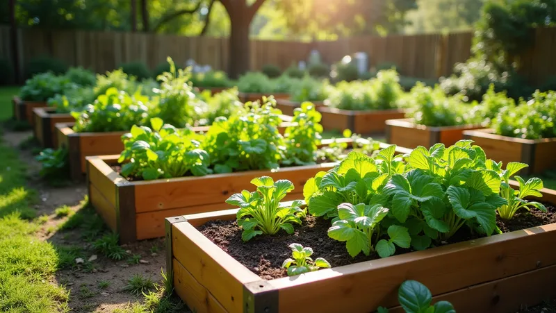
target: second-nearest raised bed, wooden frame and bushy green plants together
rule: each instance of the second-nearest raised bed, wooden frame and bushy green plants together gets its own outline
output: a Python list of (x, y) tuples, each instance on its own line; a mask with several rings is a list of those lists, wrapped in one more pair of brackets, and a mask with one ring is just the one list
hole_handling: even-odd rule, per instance
[[(170, 164), (164, 164), (170, 159), (156, 163), (158, 156), (137, 150), (138, 141), (152, 142), (152, 139), (141, 139), (144, 134), (140, 133), (139, 128), (133, 128), (122, 155), (87, 158), (91, 202), (106, 223), (120, 232), (122, 242), (162, 237), (165, 217), (218, 210), (230, 194), (247, 188), (253, 178), (268, 175), (276, 179), (290, 179), (297, 187), (291, 199), (299, 198), (306, 180), (319, 171), (332, 169), (342, 153), (350, 150), (372, 153), (386, 146), (367, 139), (338, 139), (325, 140), (320, 145), (322, 149), (316, 151), (315, 128), (301, 120), (313, 119), (318, 115), (314, 108), (309, 108), (309, 111), (297, 114), (297, 119), (294, 117), (293, 120), (295, 125), (306, 127), (286, 128), (286, 139), (295, 138), (291, 141), (284, 142), (284, 138), (276, 132), (273, 125), (277, 122), (275, 117), (272, 117), (274, 122), (254, 121), (245, 130), (237, 127), (238, 123), (243, 123), (241, 119), (231, 119), (229, 124), (228, 121), (217, 124), (206, 135), (181, 135), (183, 142), (188, 142), (186, 138), (190, 138), (200, 142), (200, 146), (183, 148), (187, 160), (181, 162), (185, 168), (175, 171), (175, 174), (172, 174), (174, 169)], [(160, 126), (154, 129), (164, 133), (165, 130)], [(243, 139), (245, 143), (238, 143), (235, 136), (240, 133), (234, 133), (237, 131), (241, 133), (240, 137), (247, 136), (247, 139), (254, 136), (260, 139)], [(227, 135), (222, 135), (224, 133)], [(156, 149), (166, 145), (167, 135), (174, 137), (176, 134), (162, 135), (160, 142), (150, 144), (161, 155), (160, 158), (165, 158), (162, 156), (165, 152)], [(229, 138), (226, 144), (213, 144), (224, 140), (222, 136)], [(396, 154), (408, 152), (402, 148), (392, 149)], [(279, 156), (273, 151), (284, 151), (285, 155)], [(132, 158), (133, 162), (129, 162)]]

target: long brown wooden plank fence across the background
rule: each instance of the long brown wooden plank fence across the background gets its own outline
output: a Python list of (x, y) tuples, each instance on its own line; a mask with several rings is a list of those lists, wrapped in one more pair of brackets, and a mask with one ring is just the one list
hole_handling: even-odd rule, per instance
[[(521, 62), (527, 65), (523, 74), (537, 82), (556, 74), (556, 28), (539, 28), (534, 33), (534, 46), (524, 53)], [(29, 60), (42, 55), (97, 72), (109, 71), (131, 61), (145, 62), (154, 69), (167, 56), (171, 56), (177, 65), (185, 65), (191, 58), (199, 64), (222, 70), (226, 70), (230, 62), (228, 38), (35, 28), (21, 28), (17, 34), (22, 71)], [(368, 53), (370, 67), (393, 62), (405, 76), (439, 78), (451, 74), (456, 62), (467, 60), (471, 55), (472, 37), (472, 33), (464, 32), (352, 37), (330, 42), (251, 40), (250, 67), (259, 70), (265, 64), (273, 64), (285, 69), (292, 63), (306, 60), (312, 49), (320, 51), (322, 60), (327, 63), (363, 51)], [(0, 26), (0, 58), (9, 60), (10, 51), (9, 28)]]

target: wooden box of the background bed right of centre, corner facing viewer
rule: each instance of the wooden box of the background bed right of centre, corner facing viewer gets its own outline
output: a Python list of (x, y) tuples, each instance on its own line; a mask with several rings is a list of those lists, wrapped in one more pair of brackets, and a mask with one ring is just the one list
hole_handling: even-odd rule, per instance
[(325, 130), (350, 129), (356, 134), (384, 133), (388, 119), (402, 119), (404, 110), (352, 111), (320, 106), (317, 110), (322, 115), (320, 124)]

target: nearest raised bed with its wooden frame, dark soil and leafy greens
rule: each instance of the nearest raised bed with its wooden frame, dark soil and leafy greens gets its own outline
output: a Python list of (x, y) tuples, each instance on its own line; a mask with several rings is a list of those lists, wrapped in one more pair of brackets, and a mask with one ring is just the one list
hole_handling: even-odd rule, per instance
[(430, 291), (408, 302), (516, 312), (556, 296), (556, 192), (514, 176), (525, 166), (464, 141), (407, 164), (350, 153), (306, 183), (306, 208), (279, 204), (291, 182), (256, 178), (227, 200), (240, 209), (166, 220), (167, 270), (197, 312), (403, 312), (396, 291), (413, 280)]

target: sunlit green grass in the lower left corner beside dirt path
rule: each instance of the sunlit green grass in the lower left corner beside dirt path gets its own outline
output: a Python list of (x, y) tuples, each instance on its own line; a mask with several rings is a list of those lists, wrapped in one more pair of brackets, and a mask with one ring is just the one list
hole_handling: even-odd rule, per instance
[(1, 142), (0, 160), (0, 312), (67, 312), (68, 291), (51, 283), (58, 252), (34, 237), (42, 219), (33, 220), (36, 193), (25, 187), (24, 164)]

